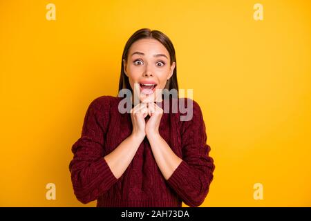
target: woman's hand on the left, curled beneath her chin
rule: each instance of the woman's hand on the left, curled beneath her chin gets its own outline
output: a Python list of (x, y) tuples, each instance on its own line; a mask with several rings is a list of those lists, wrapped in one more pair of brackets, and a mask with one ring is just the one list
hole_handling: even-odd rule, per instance
[(146, 136), (145, 127), (146, 122), (144, 120), (148, 115), (147, 103), (140, 103), (131, 109), (131, 119), (133, 124), (132, 135), (144, 139)]

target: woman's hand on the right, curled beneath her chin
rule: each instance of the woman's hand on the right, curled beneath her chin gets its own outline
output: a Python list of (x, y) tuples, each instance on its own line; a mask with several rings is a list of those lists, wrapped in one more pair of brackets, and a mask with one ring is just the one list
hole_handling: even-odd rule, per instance
[(148, 115), (150, 115), (150, 118), (147, 121), (145, 129), (147, 137), (159, 135), (159, 126), (163, 115), (163, 109), (153, 102), (148, 103)]

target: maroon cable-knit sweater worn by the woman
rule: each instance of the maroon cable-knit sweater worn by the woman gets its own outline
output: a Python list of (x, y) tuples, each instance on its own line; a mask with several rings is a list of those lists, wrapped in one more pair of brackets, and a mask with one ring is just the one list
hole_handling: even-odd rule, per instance
[[(180, 121), (180, 113), (164, 113), (159, 133), (182, 162), (165, 180), (153, 157), (147, 137), (133, 160), (117, 179), (104, 156), (132, 132), (131, 114), (120, 113), (121, 97), (102, 96), (91, 102), (84, 117), (81, 137), (73, 144), (69, 164), (73, 190), (82, 203), (97, 206), (200, 206), (213, 180), (214, 160), (200, 106), (193, 100), (193, 117)], [(182, 98), (185, 99), (185, 98)], [(170, 99), (171, 102), (171, 99)], [(163, 108), (162, 102), (162, 108)], [(185, 100), (187, 104), (187, 100)], [(181, 111), (182, 112), (182, 111)]]

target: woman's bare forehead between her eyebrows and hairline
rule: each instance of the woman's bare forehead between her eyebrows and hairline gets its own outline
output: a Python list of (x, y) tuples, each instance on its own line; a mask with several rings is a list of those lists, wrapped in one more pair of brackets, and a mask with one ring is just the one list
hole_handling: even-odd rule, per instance
[(143, 52), (145, 55), (149, 53), (158, 53), (169, 56), (167, 48), (156, 39), (139, 39), (138, 41), (135, 41), (129, 49), (129, 55), (131, 55), (131, 52), (135, 51)]

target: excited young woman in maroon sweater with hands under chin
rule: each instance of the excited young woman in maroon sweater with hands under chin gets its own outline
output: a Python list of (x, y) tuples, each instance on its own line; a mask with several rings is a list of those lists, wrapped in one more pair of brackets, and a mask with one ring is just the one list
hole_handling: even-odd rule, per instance
[[(122, 97), (97, 97), (88, 106), (69, 165), (77, 199), (97, 200), (97, 206), (200, 206), (214, 160), (194, 100), (169, 98), (169, 111), (163, 111), (167, 99), (159, 91), (178, 91), (175, 49), (166, 35), (144, 28), (129, 38), (122, 89), (133, 93), (129, 113), (120, 111)], [(180, 108), (173, 113), (176, 100), (192, 104), (190, 120), (180, 120)]]

